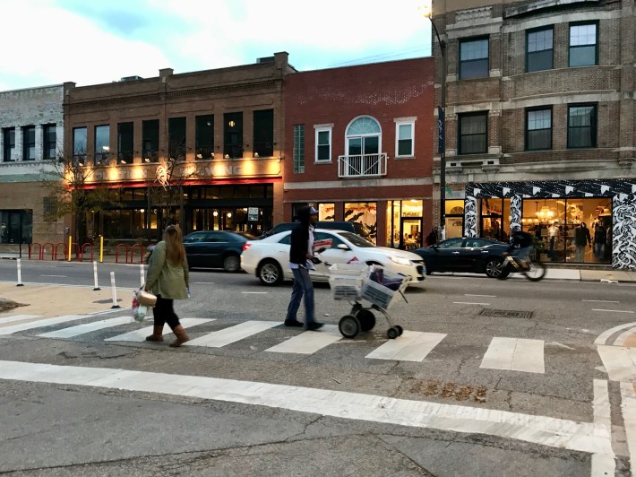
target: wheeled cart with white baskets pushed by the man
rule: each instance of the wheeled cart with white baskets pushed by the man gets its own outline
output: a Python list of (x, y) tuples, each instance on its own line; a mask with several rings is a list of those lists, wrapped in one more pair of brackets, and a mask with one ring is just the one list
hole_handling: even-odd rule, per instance
[[(404, 331), (400, 325), (392, 325), (387, 309), (393, 299), (404, 297), (411, 277), (393, 273), (380, 265), (334, 264), (327, 265), (333, 299), (348, 301), (351, 311), (340, 318), (338, 328), (345, 338), (355, 338), (361, 331), (370, 331), (375, 326), (374, 311), (386, 318), (389, 329), (386, 335), (392, 340)], [(365, 307), (363, 301), (371, 306)]]

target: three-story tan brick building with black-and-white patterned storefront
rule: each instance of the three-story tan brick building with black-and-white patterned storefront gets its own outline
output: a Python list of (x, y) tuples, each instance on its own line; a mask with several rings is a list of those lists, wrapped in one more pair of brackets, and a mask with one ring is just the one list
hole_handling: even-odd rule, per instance
[[(437, 0), (433, 11), (447, 236), (503, 239), (520, 225), (545, 258), (635, 268), (633, 0)], [(581, 222), (594, 247), (577, 244)]]

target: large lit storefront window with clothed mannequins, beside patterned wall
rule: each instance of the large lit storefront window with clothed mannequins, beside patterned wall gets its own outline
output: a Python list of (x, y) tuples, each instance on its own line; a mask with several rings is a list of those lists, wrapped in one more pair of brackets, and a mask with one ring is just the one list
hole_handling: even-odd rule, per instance
[[(612, 250), (612, 200), (606, 197), (523, 202), (523, 229), (543, 260), (607, 264)], [(585, 225), (582, 225), (582, 224)]]

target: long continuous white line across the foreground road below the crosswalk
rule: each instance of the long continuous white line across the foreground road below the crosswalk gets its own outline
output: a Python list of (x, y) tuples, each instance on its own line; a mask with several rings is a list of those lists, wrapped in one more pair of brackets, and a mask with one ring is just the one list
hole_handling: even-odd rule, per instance
[(355, 421), (492, 435), (589, 454), (612, 453), (611, 439), (597, 435), (594, 423), (458, 404), (218, 377), (4, 360), (0, 361), (0, 379), (198, 397)]

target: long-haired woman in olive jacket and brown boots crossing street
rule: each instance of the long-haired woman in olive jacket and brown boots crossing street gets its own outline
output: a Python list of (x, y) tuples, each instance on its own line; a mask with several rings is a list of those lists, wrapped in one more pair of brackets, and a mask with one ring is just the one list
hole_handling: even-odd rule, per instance
[(163, 233), (163, 240), (152, 251), (144, 285), (145, 291), (157, 295), (157, 305), (152, 309), (154, 328), (146, 341), (162, 342), (163, 325), (166, 323), (176, 335), (176, 341), (170, 346), (176, 348), (190, 340), (173, 308), (175, 299), (188, 298), (189, 278), (181, 230), (176, 225), (169, 225)]

